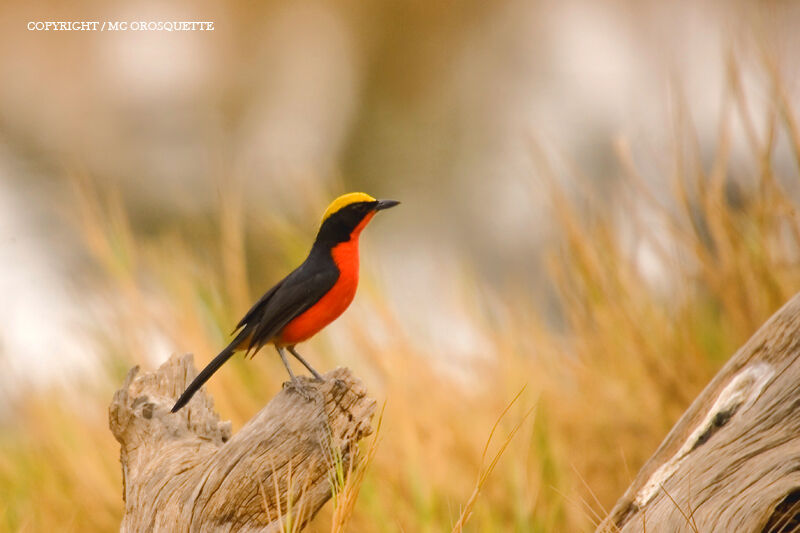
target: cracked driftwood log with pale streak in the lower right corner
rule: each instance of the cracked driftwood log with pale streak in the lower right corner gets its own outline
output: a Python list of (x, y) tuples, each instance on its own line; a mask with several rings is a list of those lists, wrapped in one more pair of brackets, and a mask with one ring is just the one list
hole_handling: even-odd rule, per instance
[(800, 530), (800, 295), (697, 397), (598, 531)]

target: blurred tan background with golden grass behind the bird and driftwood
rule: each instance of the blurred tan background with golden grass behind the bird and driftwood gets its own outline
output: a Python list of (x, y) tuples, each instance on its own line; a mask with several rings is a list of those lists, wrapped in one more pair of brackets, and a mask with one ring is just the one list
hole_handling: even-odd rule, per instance
[[(128, 368), (205, 364), (363, 190), (403, 204), (303, 348), (386, 401), (350, 530), (592, 530), (800, 288), (798, 23), (780, 1), (0, 4), (0, 529), (118, 528)], [(272, 355), (209, 383), (235, 428), (285, 378)]]

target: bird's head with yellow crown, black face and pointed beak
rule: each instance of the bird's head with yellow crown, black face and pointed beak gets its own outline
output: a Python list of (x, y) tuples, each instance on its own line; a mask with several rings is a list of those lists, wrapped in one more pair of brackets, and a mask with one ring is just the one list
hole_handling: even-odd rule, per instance
[(316, 243), (335, 246), (353, 237), (358, 238), (376, 212), (399, 203), (396, 200), (376, 200), (363, 192), (342, 195), (328, 206), (322, 216)]

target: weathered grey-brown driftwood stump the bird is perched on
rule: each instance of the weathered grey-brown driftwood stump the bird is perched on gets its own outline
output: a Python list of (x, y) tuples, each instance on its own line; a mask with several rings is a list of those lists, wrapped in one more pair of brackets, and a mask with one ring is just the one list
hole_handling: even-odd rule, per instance
[(307, 380), (305, 394), (284, 388), (235, 435), (205, 390), (170, 413), (197, 373), (191, 355), (137, 371), (109, 408), (121, 444), (122, 531), (279, 531), (288, 502), (297, 527), (331, 497), (335, 463), (347, 472), (371, 432), (375, 402), (344, 368)]

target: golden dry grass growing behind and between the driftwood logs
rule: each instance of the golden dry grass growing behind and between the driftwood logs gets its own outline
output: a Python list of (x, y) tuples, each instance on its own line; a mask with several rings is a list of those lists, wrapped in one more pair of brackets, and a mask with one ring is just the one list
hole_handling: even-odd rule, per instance
[[(611, 200), (568, 185), (580, 180), (556, 175), (532, 143), (539, 173), (530, 194), (548, 198), (556, 227), (543, 254), (552, 302), (545, 312), (524, 291), (487, 287), (467, 264), (448, 272), (469, 302), (470, 327), (488, 343), (485, 357), (460, 362), (457, 374), (397, 333), (403, 316), (380, 288), (386, 280), (362, 272), (352, 316), (306, 351), (317, 368), (346, 365), (365, 381), (384, 404), (381, 428), (363, 445), (368, 467), (309, 531), (590, 531), (598, 523), (724, 361), (800, 288), (797, 115), (777, 79), (766, 116), (751, 116), (737, 87), (733, 69), (710, 161), (691, 120), (675, 113), (673, 145), (658, 154), (658, 192), (640, 175), (649, 163), (625, 139), (609, 139), (623, 170)], [(750, 148), (736, 169), (741, 182), (730, 178), (734, 119)], [(782, 170), (779, 139), (793, 157)], [(105, 323), (89, 329), (105, 355), (69, 394), (31, 389), (9, 406), (13, 417), (0, 427), (5, 531), (117, 529), (119, 448), (107, 406), (129, 367), (153, 366), (143, 332), (204, 364), (310, 239), (281, 220), (252, 234), (235, 193), (191, 236), (140, 229), (115, 191), (80, 175), (71, 183), (64, 216), (92, 258), (96, 295), (83, 304), (103, 310)], [(612, 205), (586, 208), (600, 203)], [(651, 244), (666, 279), (642, 273), (632, 240)], [(269, 264), (262, 242), (271, 243)], [(348, 339), (347, 349), (336, 338)], [(284, 379), (265, 350), (252, 361), (235, 357), (208, 389), (237, 428)]]

